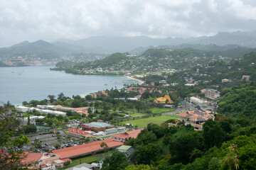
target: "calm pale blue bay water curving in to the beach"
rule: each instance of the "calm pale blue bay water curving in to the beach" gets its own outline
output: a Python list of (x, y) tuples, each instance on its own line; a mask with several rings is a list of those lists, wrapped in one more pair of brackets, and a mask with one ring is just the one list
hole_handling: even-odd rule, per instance
[(23, 101), (43, 100), (49, 94), (86, 95), (139, 83), (122, 76), (66, 74), (50, 71), (50, 67), (54, 66), (0, 67), (0, 101), (21, 105)]

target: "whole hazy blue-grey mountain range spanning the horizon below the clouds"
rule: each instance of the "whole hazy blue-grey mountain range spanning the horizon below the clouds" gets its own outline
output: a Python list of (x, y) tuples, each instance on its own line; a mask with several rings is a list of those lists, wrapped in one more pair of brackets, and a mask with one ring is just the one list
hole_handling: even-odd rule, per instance
[(132, 52), (140, 54), (149, 48), (186, 48), (199, 50), (229, 50), (237, 47), (256, 47), (256, 32), (218, 33), (198, 38), (149, 38), (146, 36), (107, 37), (97, 36), (80, 40), (59, 39), (54, 42), (38, 40), (23, 41), (11, 47), (0, 48), (0, 57), (11, 57), (31, 53), (60, 57), (70, 53), (95, 52), (112, 54), (114, 52)]

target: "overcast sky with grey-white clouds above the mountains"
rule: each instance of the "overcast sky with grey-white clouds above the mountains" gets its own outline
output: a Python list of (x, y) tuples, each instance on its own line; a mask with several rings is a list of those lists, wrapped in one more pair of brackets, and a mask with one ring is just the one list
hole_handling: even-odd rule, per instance
[(0, 47), (23, 40), (186, 38), (255, 29), (255, 0), (0, 0)]

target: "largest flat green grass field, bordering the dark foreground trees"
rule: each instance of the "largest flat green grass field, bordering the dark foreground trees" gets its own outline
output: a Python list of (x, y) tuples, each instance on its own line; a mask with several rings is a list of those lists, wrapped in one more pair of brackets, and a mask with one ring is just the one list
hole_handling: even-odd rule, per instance
[(169, 119), (177, 119), (177, 117), (171, 116), (171, 115), (161, 115), (161, 116), (142, 118), (137, 120), (128, 120), (122, 123), (124, 124), (130, 123), (132, 125), (137, 125), (139, 128), (144, 128), (149, 123), (156, 123), (158, 125), (161, 125), (161, 123), (164, 123), (166, 120), (169, 120)]

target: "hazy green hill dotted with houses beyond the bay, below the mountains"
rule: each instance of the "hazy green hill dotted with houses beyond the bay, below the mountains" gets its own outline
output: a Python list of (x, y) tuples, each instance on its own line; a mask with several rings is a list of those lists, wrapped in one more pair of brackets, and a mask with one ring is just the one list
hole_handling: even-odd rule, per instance
[(245, 55), (245, 52), (248, 51), (243, 48), (223, 51), (196, 50), (192, 48), (176, 50), (152, 48), (139, 56), (118, 52), (95, 62), (72, 65), (61, 62), (56, 67), (57, 69), (75, 74), (87, 74), (88, 72), (93, 74), (97, 72), (97, 68), (105, 71), (102, 73), (110, 73), (108, 71), (111, 68), (111, 73), (114, 74), (124, 74), (126, 72), (144, 74), (146, 72), (161, 72), (168, 69), (190, 69), (198, 64), (207, 64), (209, 61), (220, 59), (229, 61), (242, 57)]

